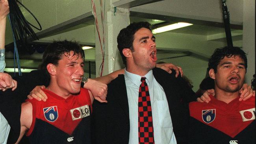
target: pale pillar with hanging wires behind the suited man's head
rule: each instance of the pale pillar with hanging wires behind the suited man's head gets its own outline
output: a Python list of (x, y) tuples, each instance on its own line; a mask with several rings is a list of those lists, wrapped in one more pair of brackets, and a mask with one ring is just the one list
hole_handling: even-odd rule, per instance
[[(111, 0), (106, 0), (106, 2), (111, 3)], [(129, 9), (123, 8), (114, 8), (111, 4), (105, 9), (108, 9), (105, 12), (104, 20), (104, 38), (105, 38), (105, 59), (104, 59), (104, 69), (103, 74), (107, 75), (115, 70), (123, 68), (122, 58), (119, 54), (117, 48), (117, 35), (122, 28), (125, 28), (130, 23), (129, 18)], [(99, 11), (98, 11), (99, 12)], [(100, 20), (100, 15), (97, 16)], [(99, 24), (101, 41), (103, 44), (103, 33), (102, 33), (102, 24)], [(96, 77), (99, 76), (99, 68), (102, 63), (102, 52), (100, 48), (100, 42), (98, 39), (98, 33), (95, 28), (95, 62), (96, 62)]]

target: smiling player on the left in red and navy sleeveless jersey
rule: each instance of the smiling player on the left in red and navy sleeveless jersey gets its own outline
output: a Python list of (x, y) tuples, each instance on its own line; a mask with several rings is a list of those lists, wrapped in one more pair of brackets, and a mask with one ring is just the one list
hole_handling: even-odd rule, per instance
[[(84, 53), (76, 42), (56, 41), (43, 55), (42, 67), (50, 75), (46, 102), (22, 103), (20, 138), (31, 144), (90, 144), (93, 96), (81, 88)], [(19, 142), (17, 141), (17, 143)]]

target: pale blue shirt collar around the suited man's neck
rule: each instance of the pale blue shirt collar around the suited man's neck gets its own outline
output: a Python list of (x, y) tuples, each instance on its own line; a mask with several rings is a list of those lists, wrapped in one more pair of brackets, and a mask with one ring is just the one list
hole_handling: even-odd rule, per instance
[(133, 74), (131, 72), (126, 71), (126, 68), (124, 69), (124, 76), (126, 76), (132, 83), (137, 85), (138, 87), (141, 85), (141, 77), (146, 78), (147, 85), (151, 85), (153, 82), (153, 71), (150, 70), (145, 76), (139, 76), (137, 74)]

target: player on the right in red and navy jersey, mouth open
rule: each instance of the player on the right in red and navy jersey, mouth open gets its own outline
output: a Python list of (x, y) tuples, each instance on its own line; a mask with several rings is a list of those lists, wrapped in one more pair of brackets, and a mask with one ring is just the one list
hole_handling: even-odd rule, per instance
[(216, 49), (209, 61), (215, 96), (209, 103), (189, 103), (189, 143), (255, 144), (255, 97), (239, 101), (247, 69), (238, 47)]

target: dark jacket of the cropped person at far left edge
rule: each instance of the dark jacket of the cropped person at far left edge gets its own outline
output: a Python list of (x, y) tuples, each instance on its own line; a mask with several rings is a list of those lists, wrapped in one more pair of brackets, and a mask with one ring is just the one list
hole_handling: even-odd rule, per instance
[(23, 74), (13, 79), (18, 82), (17, 89), (0, 91), (0, 111), (11, 126), (8, 144), (15, 143), (20, 135), (21, 103), (26, 100), (27, 95), (35, 86), (48, 85), (49, 83), (44, 70), (33, 70), (29, 74)]

